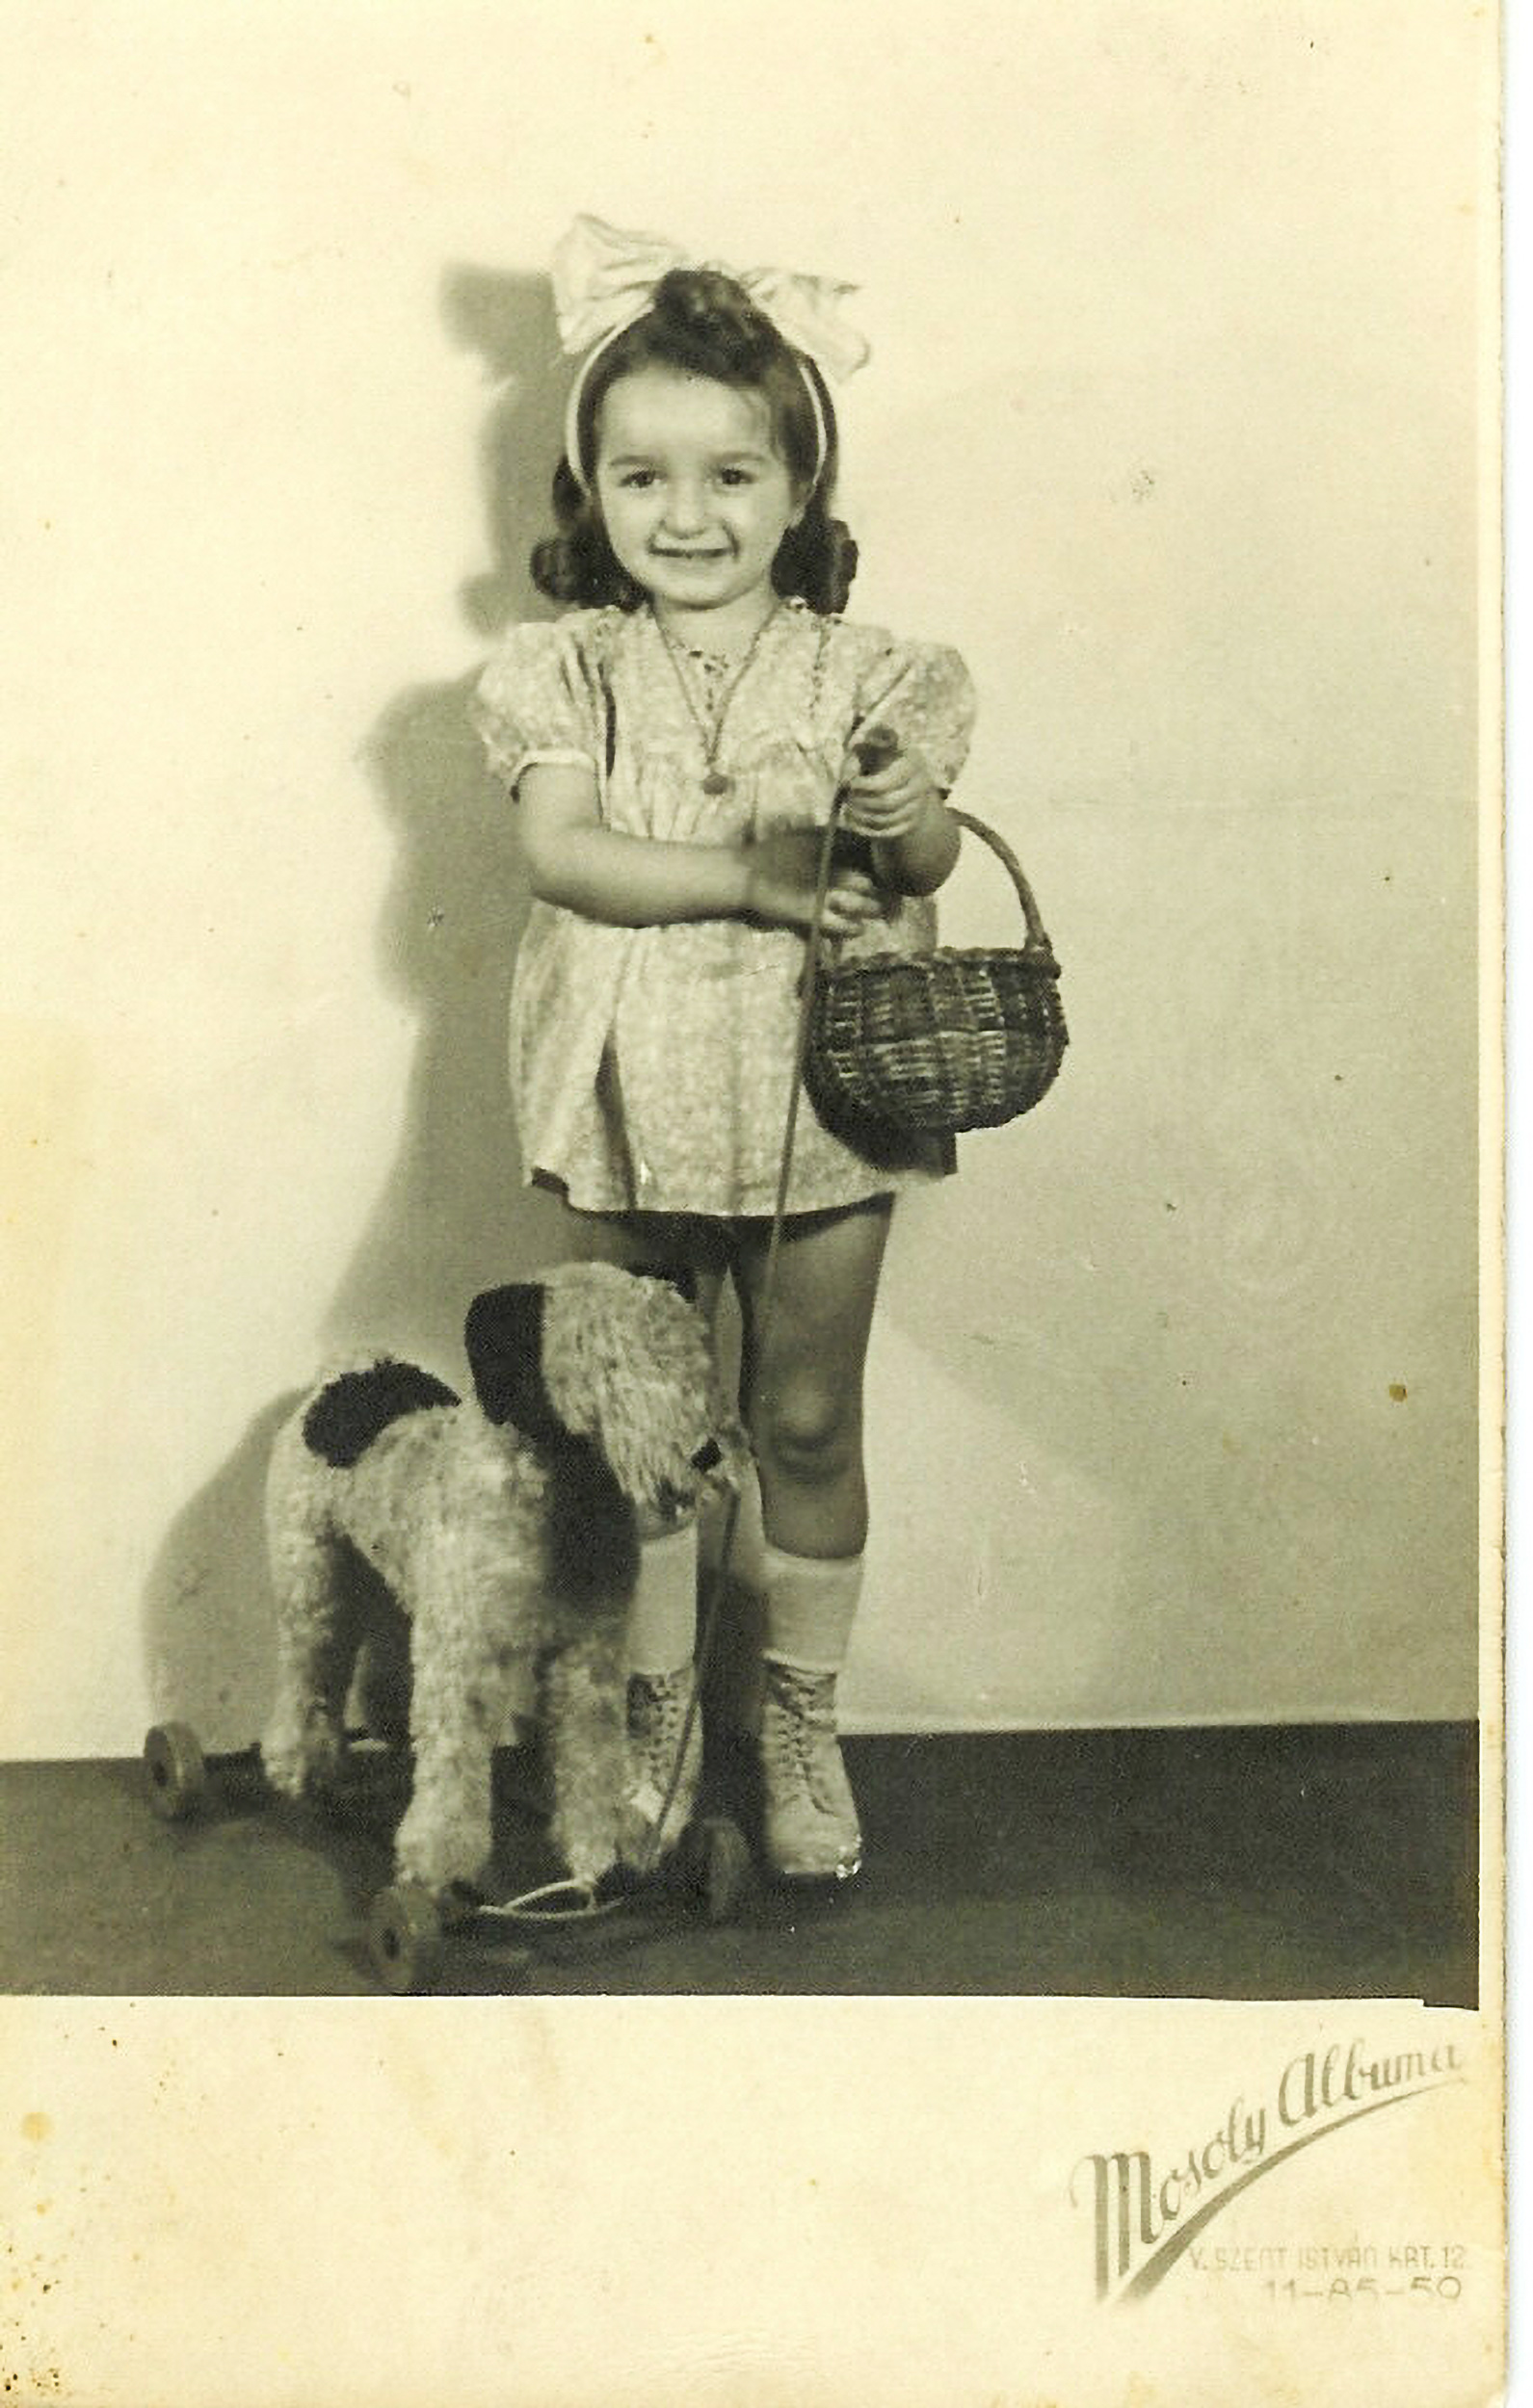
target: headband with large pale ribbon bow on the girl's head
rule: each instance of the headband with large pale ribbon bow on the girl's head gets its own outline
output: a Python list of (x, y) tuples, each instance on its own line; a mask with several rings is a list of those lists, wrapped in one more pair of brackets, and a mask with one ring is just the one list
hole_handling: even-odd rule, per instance
[[(564, 458), (576, 484), (586, 489), (581, 467), (581, 395), (591, 368), (617, 335), (644, 318), (656, 299), (656, 284), (672, 267), (713, 267), (740, 284), (764, 318), (779, 330), (798, 364), (815, 361), (822, 376), (844, 378), (868, 359), (868, 342), (839, 318), (836, 306), (856, 284), (834, 277), (803, 277), (786, 267), (721, 267), (718, 260), (694, 260), (658, 234), (622, 234), (600, 217), (576, 217), (554, 246), (554, 315), (559, 344), (586, 354), (576, 368), (564, 407)], [(815, 474), (824, 467), (827, 431), (815, 378), (805, 373), (805, 393), (815, 409)]]

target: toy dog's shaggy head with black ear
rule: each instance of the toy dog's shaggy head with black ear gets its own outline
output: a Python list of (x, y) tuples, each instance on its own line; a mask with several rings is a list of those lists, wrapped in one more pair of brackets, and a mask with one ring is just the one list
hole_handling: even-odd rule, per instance
[(463, 1341), (487, 1421), (542, 1447), (588, 1438), (639, 1512), (675, 1519), (738, 1486), (745, 1433), (704, 1317), (668, 1279), (566, 1262), (475, 1296)]

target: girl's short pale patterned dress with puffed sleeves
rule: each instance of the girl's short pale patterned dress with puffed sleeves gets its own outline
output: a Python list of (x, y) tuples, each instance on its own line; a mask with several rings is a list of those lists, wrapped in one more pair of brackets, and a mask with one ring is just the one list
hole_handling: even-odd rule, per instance
[[(689, 708), (682, 674), (694, 684)], [(706, 655), (685, 665), (648, 607), (576, 609), (509, 628), (472, 698), (506, 790), (533, 763), (595, 773), (624, 836), (738, 845), (824, 826), (846, 746), (873, 725), (918, 746), (950, 787), (974, 725), (957, 653), (786, 602), (728, 691), (704, 790)], [(697, 710), (704, 698), (704, 710)], [(711, 780), (711, 783), (723, 783)], [(930, 898), (889, 898), (846, 939), (930, 951)], [(583, 1211), (769, 1214), (788, 1117), (805, 942), (745, 920), (607, 927), (533, 903), (511, 985), (511, 1093), (528, 1178)], [(788, 1211), (887, 1194), (952, 1168), (952, 1149), (868, 1161), (800, 1103)]]

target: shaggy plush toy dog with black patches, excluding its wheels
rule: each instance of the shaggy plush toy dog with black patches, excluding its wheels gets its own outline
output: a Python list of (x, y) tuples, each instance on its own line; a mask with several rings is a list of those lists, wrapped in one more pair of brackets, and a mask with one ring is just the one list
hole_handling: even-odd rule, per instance
[(516, 1676), (535, 1666), (550, 1837), (576, 1881), (622, 1852), (624, 1625), (639, 1527), (738, 1479), (704, 1322), (660, 1279), (564, 1264), (475, 1298), (475, 1401), (410, 1363), (340, 1370), (277, 1433), (268, 1548), (277, 1597), (270, 1782), (321, 1789), (366, 1640), (362, 1556), (410, 1618), (412, 1796), (395, 1871), (475, 1883)]

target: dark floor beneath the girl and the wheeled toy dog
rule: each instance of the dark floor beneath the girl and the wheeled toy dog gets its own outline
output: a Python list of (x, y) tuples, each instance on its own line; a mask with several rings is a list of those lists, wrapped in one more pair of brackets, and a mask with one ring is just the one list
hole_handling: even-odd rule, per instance
[[(846, 1758), (868, 1869), (844, 1893), (752, 1885), (711, 1924), (663, 1885), (530, 1958), (468, 1934), (436, 1987), (1475, 2006), (1473, 1724), (848, 1739)], [(525, 1765), (497, 1775), (521, 1890), (552, 1866)], [(318, 1818), (236, 1763), (181, 1825), (137, 1763), (0, 1767), (0, 1991), (378, 1989), (390, 1787)]]

